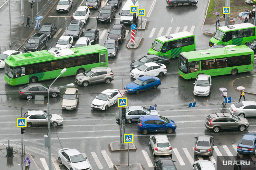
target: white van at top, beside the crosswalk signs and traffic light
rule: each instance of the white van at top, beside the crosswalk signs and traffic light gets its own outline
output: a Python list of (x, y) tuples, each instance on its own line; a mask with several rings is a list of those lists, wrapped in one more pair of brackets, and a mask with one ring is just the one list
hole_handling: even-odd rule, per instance
[[(120, 23), (123, 23), (123, 24), (132, 24), (133, 23), (133, 14), (130, 13), (130, 10), (131, 10), (131, 6), (138, 6), (137, 9), (139, 9), (139, 1), (137, 1), (135, 4), (133, 4), (133, 2), (131, 0), (128, 0), (123, 8), (122, 8), (122, 13), (119, 15), (121, 15), (120, 17)], [(138, 18), (138, 13), (136, 13), (136, 18)]]

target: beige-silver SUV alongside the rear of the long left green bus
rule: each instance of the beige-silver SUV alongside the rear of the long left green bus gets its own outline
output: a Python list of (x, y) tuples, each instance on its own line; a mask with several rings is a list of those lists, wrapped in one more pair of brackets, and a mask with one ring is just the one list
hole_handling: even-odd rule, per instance
[(105, 82), (109, 84), (114, 80), (114, 73), (108, 67), (96, 67), (75, 76), (78, 85), (87, 87), (91, 83)]

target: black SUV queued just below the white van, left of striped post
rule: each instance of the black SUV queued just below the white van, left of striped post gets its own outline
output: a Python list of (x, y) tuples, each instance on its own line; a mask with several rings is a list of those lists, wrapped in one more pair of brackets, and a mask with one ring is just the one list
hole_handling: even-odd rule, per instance
[(107, 39), (118, 40), (119, 43), (123, 43), (123, 38), (125, 37), (125, 26), (122, 23), (115, 23), (111, 30), (108, 32)]

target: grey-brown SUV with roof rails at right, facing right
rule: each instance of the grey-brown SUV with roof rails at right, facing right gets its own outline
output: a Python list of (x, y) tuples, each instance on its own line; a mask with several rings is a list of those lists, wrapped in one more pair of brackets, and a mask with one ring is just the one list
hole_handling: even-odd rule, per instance
[(219, 132), (220, 129), (238, 129), (244, 131), (249, 127), (248, 120), (244, 117), (237, 117), (231, 113), (211, 113), (206, 117), (205, 127), (207, 129), (213, 130), (214, 132)]

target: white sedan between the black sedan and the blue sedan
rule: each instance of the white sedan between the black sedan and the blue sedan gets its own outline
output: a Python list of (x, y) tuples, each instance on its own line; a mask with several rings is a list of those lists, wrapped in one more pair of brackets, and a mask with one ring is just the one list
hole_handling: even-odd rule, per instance
[(142, 64), (141, 66), (134, 68), (131, 71), (133, 78), (139, 78), (144, 75), (148, 76), (162, 76), (167, 72), (166, 66), (160, 63), (149, 62)]

